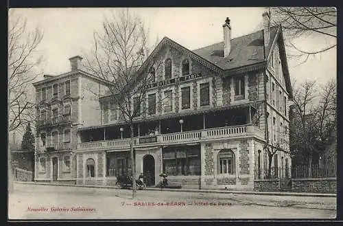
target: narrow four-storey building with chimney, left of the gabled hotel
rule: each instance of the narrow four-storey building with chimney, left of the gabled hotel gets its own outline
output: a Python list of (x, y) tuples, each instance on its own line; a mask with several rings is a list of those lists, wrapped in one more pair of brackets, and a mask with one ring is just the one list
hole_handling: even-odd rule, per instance
[(80, 56), (69, 58), (71, 71), (34, 82), (36, 88), (35, 181), (75, 183), (78, 128), (99, 124), (97, 95), (104, 82), (80, 69)]

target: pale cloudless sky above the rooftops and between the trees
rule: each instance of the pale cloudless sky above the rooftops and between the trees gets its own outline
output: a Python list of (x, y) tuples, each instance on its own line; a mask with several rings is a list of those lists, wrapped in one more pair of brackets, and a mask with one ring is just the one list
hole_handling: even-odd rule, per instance
[[(58, 75), (70, 71), (68, 58), (87, 53), (93, 41), (93, 32), (102, 28), (104, 16), (119, 8), (18, 8), (14, 15), (27, 19), (27, 28), (38, 26), (44, 32), (39, 45), (45, 62), (44, 74)], [(264, 8), (130, 8), (141, 16), (150, 28), (150, 43), (171, 38), (188, 49), (198, 49), (223, 40), (222, 25), (230, 18), (232, 38), (243, 36), (262, 27)], [(9, 18), (10, 21), (11, 18)], [(311, 49), (324, 43), (322, 37), (297, 41), (298, 47)], [(286, 49), (287, 52), (287, 49)], [(291, 80), (301, 83), (307, 79), (324, 84), (336, 78), (336, 49), (298, 65), (288, 60)], [(297, 66), (298, 65), (298, 66)], [(38, 77), (38, 80), (43, 76)]]

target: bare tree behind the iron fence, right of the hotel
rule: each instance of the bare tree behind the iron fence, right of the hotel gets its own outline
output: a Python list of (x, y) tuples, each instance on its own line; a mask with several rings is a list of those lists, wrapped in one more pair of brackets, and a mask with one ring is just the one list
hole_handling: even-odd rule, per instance
[(312, 81), (304, 82), (295, 90), (289, 125), (291, 152), (307, 161), (309, 177), (314, 156), (324, 154), (334, 142), (337, 129), (335, 81), (330, 80), (317, 89), (316, 82)]

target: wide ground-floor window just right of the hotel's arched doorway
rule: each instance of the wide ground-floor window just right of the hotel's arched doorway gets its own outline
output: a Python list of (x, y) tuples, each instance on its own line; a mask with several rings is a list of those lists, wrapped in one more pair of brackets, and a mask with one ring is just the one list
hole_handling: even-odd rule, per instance
[(163, 172), (168, 175), (200, 175), (200, 148), (163, 150)]

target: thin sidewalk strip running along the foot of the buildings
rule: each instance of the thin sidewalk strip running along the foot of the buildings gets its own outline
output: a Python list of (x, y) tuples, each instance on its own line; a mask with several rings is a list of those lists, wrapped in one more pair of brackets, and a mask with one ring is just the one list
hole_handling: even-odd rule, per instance
[[(67, 187), (84, 187), (84, 188), (106, 188), (118, 189), (114, 186), (102, 185), (72, 185), (65, 183), (43, 183), (33, 181), (14, 181), (14, 183), (34, 184), (34, 185), (53, 185), (53, 186), (67, 186)], [(146, 188), (146, 190), (169, 191), (169, 192), (197, 192), (197, 193), (221, 193), (221, 194), (255, 194), (255, 195), (273, 195), (273, 196), (311, 196), (311, 197), (336, 197), (337, 194), (323, 194), (323, 193), (300, 193), (300, 192), (253, 192), (253, 191), (231, 191), (231, 190), (197, 190), (197, 189), (172, 189), (172, 188)]]

